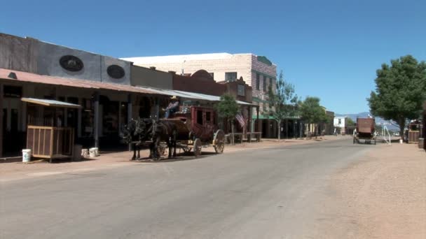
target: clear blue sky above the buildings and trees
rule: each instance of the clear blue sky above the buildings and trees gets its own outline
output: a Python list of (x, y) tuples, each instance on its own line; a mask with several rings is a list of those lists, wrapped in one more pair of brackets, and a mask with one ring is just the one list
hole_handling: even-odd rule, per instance
[(359, 113), (381, 64), (426, 60), (426, 1), (8, 1), (0, 32), (113, 57), (252, 52), (298, 96)]

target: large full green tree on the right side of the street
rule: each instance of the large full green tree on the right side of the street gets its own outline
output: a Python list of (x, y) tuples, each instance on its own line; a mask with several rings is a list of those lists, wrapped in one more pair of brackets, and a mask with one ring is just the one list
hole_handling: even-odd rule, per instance
[(411, 55), (390, 62), (376, 71), (376, 91), (367, 101), (373, 115), (397, 122), (403, 139), (406, 121), (419, 117), (426, 99), (426, 63)]

